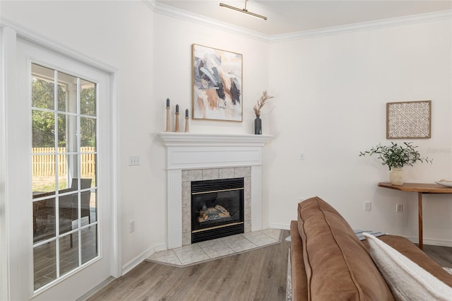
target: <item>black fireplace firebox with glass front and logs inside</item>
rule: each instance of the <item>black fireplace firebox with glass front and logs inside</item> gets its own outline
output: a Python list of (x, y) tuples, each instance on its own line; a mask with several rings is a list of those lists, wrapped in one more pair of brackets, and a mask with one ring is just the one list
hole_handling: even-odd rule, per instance
[(191, 182), (191, 243), (244, 232), (244, 178)]

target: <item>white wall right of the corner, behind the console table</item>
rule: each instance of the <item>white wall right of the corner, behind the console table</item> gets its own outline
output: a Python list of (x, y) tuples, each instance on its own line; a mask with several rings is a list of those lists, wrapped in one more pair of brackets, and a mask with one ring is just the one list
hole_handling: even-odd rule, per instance
[[(434, 163), (405, 168), (405, 182), (452, 179), (451, 56), (450, 20), (271, 45), (270, 225), (287, 225), (299, 199), (317, 195), (353, 228), (417, 237), (417, 194), (376, 187), (387, 167), (358, 155), (390, 143), (386, 102), (432, 100), (432, 138), (412, 141)], [(451, 228), (451, 196), (424, 195), (424, 240), (452, 245)]]

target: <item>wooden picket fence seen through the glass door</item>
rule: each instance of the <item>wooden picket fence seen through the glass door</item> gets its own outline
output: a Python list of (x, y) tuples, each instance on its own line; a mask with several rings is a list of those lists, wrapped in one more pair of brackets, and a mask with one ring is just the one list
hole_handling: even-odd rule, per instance
[[(96, 148), (81, 148), (81, 176), (95, 177), (96, 170)], [(58, 164), (58, 175), (67, 174), (67, 158), (71, 155), (66, 154), (66, 148), (58, 148), (58, 155), (55, 148), (32, 148), (32, 172), (33, 176), (52, 176)], [(55, 159), (58, 158), (57, 164)]]

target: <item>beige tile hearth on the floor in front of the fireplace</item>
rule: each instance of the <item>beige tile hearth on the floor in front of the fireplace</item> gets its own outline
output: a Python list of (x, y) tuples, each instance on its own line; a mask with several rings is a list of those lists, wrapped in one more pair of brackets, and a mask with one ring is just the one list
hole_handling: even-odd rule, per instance
[(179, 267), (191, 266), (277, 244), (282, 240), (281, 234), (282, 231), (279, 229), (242, 233), (155, 252), (145, 261)]

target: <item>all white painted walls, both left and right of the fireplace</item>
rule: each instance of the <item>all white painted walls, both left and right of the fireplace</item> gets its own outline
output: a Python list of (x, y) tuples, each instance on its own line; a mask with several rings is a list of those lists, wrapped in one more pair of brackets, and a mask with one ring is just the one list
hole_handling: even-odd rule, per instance
[[(251, 134), (255, 101), (263, 90), (275, 95), (262, 114), (264, 134), (275, 136), (264, 148), (264, 225), (287, 228), (299, 198), (318, 195), (353, 228), (417, 237), (415, 194), (376, 187), (387, 171), (358, 157), (386, 141), (386, 102), (433, 101), (432, 138), (415, 143), (434, 164), (409, 168), (406, 178), (452, 179), (450, 20), (267, 44), (153, 13), (142, 1), (2, 1), (1, 16), (119, 69), (125, 268), (165, 246), (165, 149), (157, 134), (166, 98), (191, 110), (193, 43), (243, 54), (244, 122), (190, 120), (192, 132)], [(129, 167), (129, 155), (140, 155), (141, 165)], [(426, 241), (452, 245), (449, 198), (424, 196)], [(404, 213), (395, 213), (396, 202)]]

